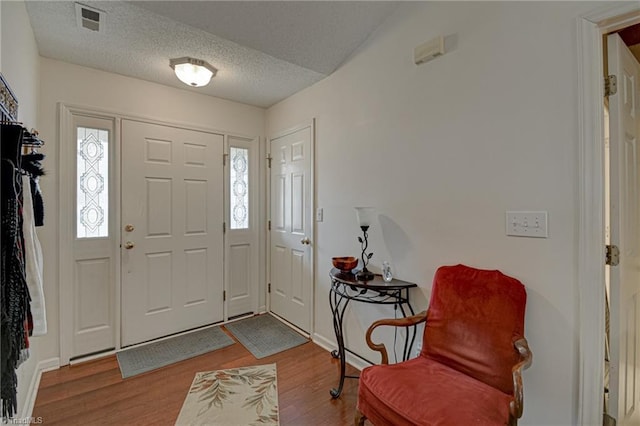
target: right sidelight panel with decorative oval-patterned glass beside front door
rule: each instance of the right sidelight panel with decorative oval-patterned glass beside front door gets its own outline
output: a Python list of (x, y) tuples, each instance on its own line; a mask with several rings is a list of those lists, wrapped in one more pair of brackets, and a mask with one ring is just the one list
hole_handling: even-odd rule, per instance
[(259, 140), (227, 136), (226, 255), (227, 318), (258, 310)]

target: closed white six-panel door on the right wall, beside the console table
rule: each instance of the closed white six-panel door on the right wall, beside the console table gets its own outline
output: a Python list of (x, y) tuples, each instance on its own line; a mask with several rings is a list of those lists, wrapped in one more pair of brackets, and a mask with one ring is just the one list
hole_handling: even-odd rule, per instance
[(311, 331), (313, 314), (313, 126), (270, 141), (271, 311)]

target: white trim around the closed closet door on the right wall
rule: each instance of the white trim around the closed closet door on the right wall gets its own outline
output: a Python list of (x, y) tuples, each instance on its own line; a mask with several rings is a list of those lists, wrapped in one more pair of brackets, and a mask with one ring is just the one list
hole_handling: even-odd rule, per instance
[[(315, 299), (316, 299), (316, 263), (317, 263), (317, 256), (318, 256), (318, 250), (316, 250), (316, 246), (317, 246), (317, 242), (318, 242), (318, 238), (316, 235), (316, 220), (315, 220), (315, 211), (316, 211), (316, 202), (317, 202), (317, 194), (316, 194), (316, 119), (311, 118), (308, 121), (303, 121), (301, 123), (298, 123), (292, 127), (286, 128), (284, 130), (280, 130), (275, 132), (274, 134), (270, 135), (267, 138), (267, 143), (266, 143), (266, 151), (267, 151), (267, 157), (271, 158), (271, 141), (274, 139), (278, 139), (281, 138), (283, 136), (287, 136), (291, 133), (295, 133), (299, 130), (302, 130), (304, 128), (310, 127), (311, 128), (311, 212), (312, 212), (312, 217), (311, 217), (311, 223), (310, 223), (310, 228), (311, 228), (311, 241), (313, 241), (313, 244), (310, 247), (311, 250), (311, 294), (310, 294), (310, 301), (309, 301), (309, 305), (311, 306), (311, 311), (309, 312), (310, 318), (309, 318), (309, 335), (313, 336), (314, 334), (314, 330), (315, 330)], [(271, 168), (267, 167), (266, 168), (266, 177), (265, 180), (267, 182), (267, 191), (266, 191), (266, 200), (267, 200), (267, 205), (266, 205), (266, 217), (267, 220), (270, 221), (271, 220)], [(270, 230), (267, 230), (267, 238), (266, 238), (266, 258), (265, 258), (265, 262), (266, 262), (266, 276), (267, 276), (267, 288), (265, 288), (265, 294), (266, 294), (266, 306), (267, 306), (267, 312), (271, 312), (271, 295), (269, 294), (269, 285), (271, 283), (271, 232)], [(295, 325), (295, 324), (294, 324)]]

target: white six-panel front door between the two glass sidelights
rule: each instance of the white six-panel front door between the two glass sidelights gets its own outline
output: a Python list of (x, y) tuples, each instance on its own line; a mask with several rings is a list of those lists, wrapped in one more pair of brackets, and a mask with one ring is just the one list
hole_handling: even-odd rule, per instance
[(122, 345), (223, 319), (222, 135), (122, 121)]

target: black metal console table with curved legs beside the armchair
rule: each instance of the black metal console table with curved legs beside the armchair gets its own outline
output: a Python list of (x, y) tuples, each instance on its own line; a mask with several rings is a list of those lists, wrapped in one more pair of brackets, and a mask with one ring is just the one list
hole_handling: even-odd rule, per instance
[[(333, 329), (336, 333), (336, 341), (338, 342), (338, 349), (331, 352), (331, 356), (340, 359), (340, 384), (337, 389), (331, 389), (330, 393), (333, 398), (338, 398), (342, 393), (345, 377), (358, 378), (357, 376), (347, 376), (345, 374), (346, 352), (360, 356), (347, 349), (344, 345), (342, 321), (349, 302), (354, 300), (356, 302), (373, 303), (377, 305), (396, 305), (400, 308), (403, 317), (407, 316), (404, 308), (406, 305), (411, 315), (414, 315), (413, 307), (411, 307), (409, 303), (409, 289), (417, 287), (417, 284), (396, 279), (391, 280), (391, 282), (385, 282), (380, 275), (376, 275), (372, 281), (358, 281), (355, 275), (343, 273), (336, 268), (331, 269), (329, 276), (331, 277), (329, 304), (331, 305), (331, 313), (333, 314)], [(409, 333), (411, 333), (410, 339)], [(415, 338), (416, 329), (412, 327), (411, 331), (407, 330), (407, 338), (404, 342), (402, 354), (403, 361), (409, 359)]]

